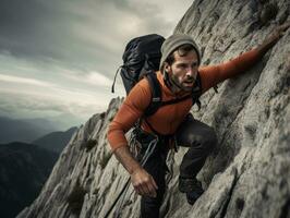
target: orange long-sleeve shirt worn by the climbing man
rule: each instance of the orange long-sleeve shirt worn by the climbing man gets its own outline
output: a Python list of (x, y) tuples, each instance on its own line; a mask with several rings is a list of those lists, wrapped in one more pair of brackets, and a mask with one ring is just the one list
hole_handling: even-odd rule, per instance
[[(198, 73), (202, 81), (202, 92), (205, 93), (216, 84), (244, 72), (251, 68), (262, 55), (257, 49), (252, 49), (242, 53), (238, 58), (217, 65), (201, 66)], [(173, 94), (165, 84), (164, 76), (157, 72), (157, 78), (161, 87), (162, 101), (181, 98), (189, 93)], [(126, 146), (128, 141), (124, 134), (142, 117), (152, 100), (152, 90), (146, 78), (140, 81), (124, 99), (114, 119), (110, 123), (108, 141), (112, 150), (121, 146)], [(192, 99), (180, 101), (159, 108), (153, 116), (146, 118), (154, 129), (160, 134), (172, 134), (189, 113), (192, 107)], [(146, 122), (142, 123), (142, 129), (152, 132)]]

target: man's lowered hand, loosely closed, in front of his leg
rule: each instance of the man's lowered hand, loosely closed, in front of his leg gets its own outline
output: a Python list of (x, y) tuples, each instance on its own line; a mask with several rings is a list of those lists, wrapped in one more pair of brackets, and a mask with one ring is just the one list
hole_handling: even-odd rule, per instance
[(143, 168), (137, 168), (131, 174), (131, 182), (137, 194), (156, 197), (156, 190), (158, 189), (153, 177)]

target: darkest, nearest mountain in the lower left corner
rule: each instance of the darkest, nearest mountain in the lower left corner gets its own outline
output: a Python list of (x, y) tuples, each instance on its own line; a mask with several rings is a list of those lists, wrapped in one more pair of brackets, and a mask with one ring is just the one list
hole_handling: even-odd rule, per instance
[(26, 143), (0, 144), (0, 215), (15, 217), (39, 194), (58, 154)]

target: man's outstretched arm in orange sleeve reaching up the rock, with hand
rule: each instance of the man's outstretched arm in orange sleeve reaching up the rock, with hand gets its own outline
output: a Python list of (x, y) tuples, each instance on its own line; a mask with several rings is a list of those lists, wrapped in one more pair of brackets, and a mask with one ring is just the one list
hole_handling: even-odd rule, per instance
[(266, 37), (266, 39), (259, 46), (242, 53), (231, 61), (217, 65), (200, 68), (198, 71), (202, 78), (203, 93), (217, 85), (218, 83), (252, 68), (279, 40), (279, 38), (285, 34), (285, 31), (289, 26), (290, 21), (286, 22), (283, 25), (276, 27), (274, 32), (268, 37)]

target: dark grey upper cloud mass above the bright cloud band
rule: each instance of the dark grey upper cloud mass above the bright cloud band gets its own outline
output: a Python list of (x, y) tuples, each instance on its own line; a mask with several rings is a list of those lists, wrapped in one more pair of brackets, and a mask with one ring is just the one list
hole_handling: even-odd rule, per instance
[[(58, 60), (112, 78), (132, 37), (173, 31), (178, 21), (172, 17), (182, 14), (167, 14), (172, 11), (170, 4), (153, 0), (2, 0), (0, 51), (33, 61)], [(184, 2), (173, 4), (177, 11)]]

